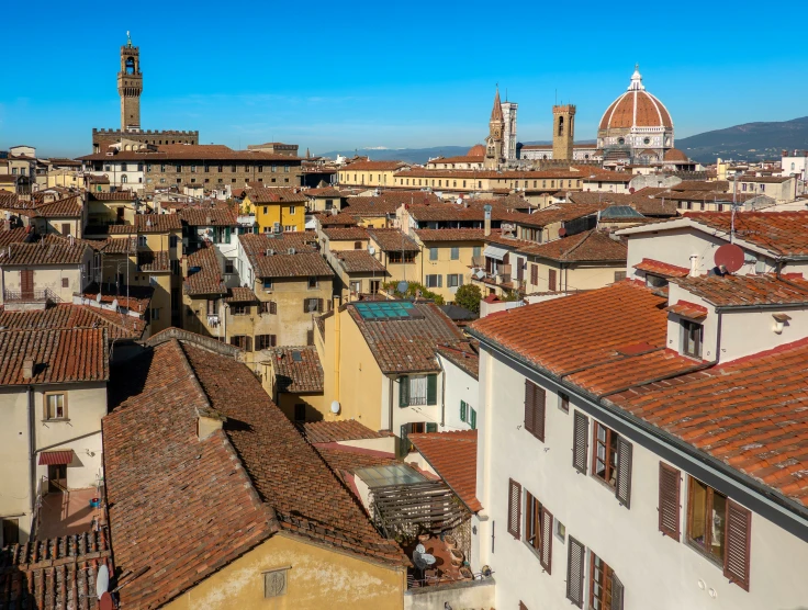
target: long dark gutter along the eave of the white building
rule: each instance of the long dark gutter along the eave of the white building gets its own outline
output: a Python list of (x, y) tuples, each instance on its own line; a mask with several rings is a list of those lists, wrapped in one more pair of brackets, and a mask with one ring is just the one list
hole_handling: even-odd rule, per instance
[[(490, 346), (496, 352), (501, 353), (508, 360), (538, 373), (540, 376), (547, 379), (553, 384), (565, 387), (579, 397), (583, 398), (590, 406), (596, 409), (602, 409), (613, 416), (615, 419), (621, 421), (629, 429), (638, 432), (640, 436), (652, 440), (653, 442), (667, 448), (674, 453), (684, 458), (687, 462), (698, 464), (702, 467), (706, 467), (712, 471), (712, 473), (720, 479), (728, 482), (733, 486), (743, 486), (748, 488), (748, 493), (755, 495), (761, 501), (770, 506), (779, 513), (785, 515), (789, 519), (796, 519), (803, 527), (808, 528), (808, 507), (798, 505), (795, 500), (786, 498), (778, 492), (775, 492), (767, 485), (760, 483), (753, 477), (741, 473), (740, 471), (732, 468), (721, 462), (720, 460), (712, 458), (711, 455), (702, 452), (689, 443), (686, 443), (658, 428), (648, 423), (646, 420), (631, 415), (625, 409), (617, 407), (610, 400), (603, 400), (606, 395), (597, 396), (587, 392), (580, 386), (563, 381), (560, 376), (550, 373), (543, 369), (537, 368), (534, 363), (528, 361), (525, 357), (519, 355), (505, 348), (501, 343), (491, 340), (490, 338), (482, 335), (476, 329), (470, 329), (469, 335), (479, 339), (482, 343)], [(637, 387), (639, 384), (633, 384), (631, 387)]]

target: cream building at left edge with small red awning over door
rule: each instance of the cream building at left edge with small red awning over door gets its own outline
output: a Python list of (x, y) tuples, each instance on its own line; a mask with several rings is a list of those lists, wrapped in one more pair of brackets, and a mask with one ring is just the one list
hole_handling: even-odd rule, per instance
[(0, 546), (35, 533), (43, 496), (103, 479), (108, 360), (103, 328), (0, 331)]

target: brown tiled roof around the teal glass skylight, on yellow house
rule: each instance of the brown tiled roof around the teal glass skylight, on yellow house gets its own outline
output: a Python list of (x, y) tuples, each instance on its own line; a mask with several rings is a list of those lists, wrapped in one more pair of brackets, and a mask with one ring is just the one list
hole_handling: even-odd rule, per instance
[[(384, 302), (385, 305), (409, 302)], [(356, 304), (348, 304), (382, 373), (439, 371), (435, 350), (438, 343), (462, 340), (460, 329), (434, 303), (413, 303), (408, 316), (366, 319)]]

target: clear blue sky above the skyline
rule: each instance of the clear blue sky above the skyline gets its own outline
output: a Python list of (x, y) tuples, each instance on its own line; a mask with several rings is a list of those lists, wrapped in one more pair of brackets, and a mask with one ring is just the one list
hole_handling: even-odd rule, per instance
[(232, 147), (472, 145), (496, 82), (519, 102), (521, 142), (550, 137), (556, 91), (577, 104), (576, 138), (592, 139), (635, 63), (677, 137), (808, 114), (808, 54), (788, 50), (788, 15), (743, 2), (158, 4), (7, 7), (0, 149), (85, 155), (93, 126), (117, 127), (127, 30), (141, 47), (142, 126)]

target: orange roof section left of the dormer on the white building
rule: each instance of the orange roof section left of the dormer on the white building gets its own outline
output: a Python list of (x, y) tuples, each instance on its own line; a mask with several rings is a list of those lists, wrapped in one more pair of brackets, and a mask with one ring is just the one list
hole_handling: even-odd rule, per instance
[(698, 365), (665, 349), (666, 305), (626, 281), (489, 316), (470, 331), (602, 395)]

